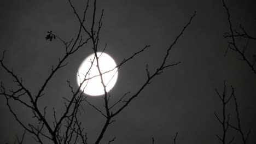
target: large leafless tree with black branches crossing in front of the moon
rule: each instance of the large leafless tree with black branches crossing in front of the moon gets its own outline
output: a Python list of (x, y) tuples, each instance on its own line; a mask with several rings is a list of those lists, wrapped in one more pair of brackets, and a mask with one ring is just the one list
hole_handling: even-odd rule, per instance
[[(125, 93), (123, 96), (120, 95), (120, 99), (116, 102), (113, 102), (113, 105), (110, 105), (109, 101), (112, 99), (110, 98), (110, 93), (107, 93), (106, 90), (106, 83), (103, 81), (102, 75), (105, 73), (108, 73), (109, 71), (102, 73), (100, 70), (100, 63), (98, 62), (99, 55), (98, 55), (98, 42), (100, 40), (100, 31), (102, 27), (102, 17), (103, 17), (103, 10), (101, 10), (101, 14), (98, 17), (97, 16), (97, 6), (96, 6), (96, 0), (94, 0), (92, 3), (89, 3), (87, 1), (85, 8), (84, 8), (84, 13), (83, 15), (79, 15), (77, 13), (77, 10), (73, 6), (73, 3), (68, 0), (71, 8), (74, 11), (74, 15), (77, 17), (79, 20), (80, 25), (78, 26), (78, 33), (77, 36), (70, 41), (65, 41), (63, 40), (59, 35), (56, 33), (49, 31), (46, 35), (46, 40), (60, 40), (62, 41), (64, 47), (65, 47), (65, 55), (63, 55), (61, 58), (59, 58), (59, 62), (57, 62), (56, 67), (51, 68), (51, 73), (50, 75), (45, 79), (44, 83), (40, 87), (39, 91), (34, 94), (31, 93), (30, 90), (28, 90), (27, 87), (24, 86), (22, 83), (21, 77), (18, 76), (18, 74), (15, 73), (14, 70), (11, 70), (8, 65), (4, 63), (4, 53), (3, 56), (0, 59), (0, 63), (2, 68), (9, 73), (9, 75), (14, 79), (14, 82), (16, 83), (16, 86), (18, 88), (6, 88), (4, 86), (4, 83), (1, 82), (1, 95), (4, 95), (6, 99), (7, 106), (10, 110), (10, 112), (13, 114), (15, 117), (16, 121), (25, 129), (24, 134), (22, 135), (22, 139), (18, 140), (18, 143), (22, 143), (24, 141), (25, 133), (31, 134), (31, 136), (34, 138), (34, 140), (37, 143), (46, 143), (45, 141), (51, 141), (52, 143), (83, 143), (86, 144), (88, 143), (88, 137), (85, 133), (85, 129), (82, 127), (82, 122), (79, 121), (79, 113), (81, 110), (83, 110), (83, 105), (82, 103), (88, 103), (90, 106), (92, 106), (96, 111), (100, 112), (101, 115), (105, 118), (104, 125), (100, 131), (100, 134), (97, 136), (97, 139), (95, 140), (95, 143), (100, 143), (102, 140), (102, 137), (106, 133), (107, 128), (109, 127), (110, 124), (112, 124), (115, 120), (114, 117), (117, 116), (121, 111), (123, 111), (127, 105), (131, 103), (133, 99), (138, 97), (138, 95), (144, 90), (145, 87), (149, 85), (149, 83), (152, 82), (152, 80), (158, 76), (159, 74), (163, 73), (165, 69), (169, 67), (173, 67), (174, 65), (177, 65), (181, 62), (176, 62), (173, 64), (168, 64), (167, 63), (167, 58), (169, 57), (169, 53), (173, 47), (174, 44), (177, 43), (179, 38), (181, 38), (181, 35), (184, 33), (185, 29), (190, 25), (190, 22), (193, 20), (195, 17), (195, 13), (190, 17), (189, 21), (181, 32), (177, 35), (176, 39), (173, 40), (172, 44), (166, 49), (166, 53), (163, 56), (162, 61), (159, 63), (158, 68), (156, 68), (154, 71), (149, 71), (148, 66), (146, 67), (146, 72), (147, 72), (147, 79), (144, 81), (141, 87), (138, 88), (137, 92), (135, 94), (128, 96), (128, 93)], [(86, 15), (88, 15), (89, 10), (89, 5), (92, 5), (92, 20), (88, 21), (86, 19)], [(98, 20), (97, 20), (98, 17)], [(87, 25), (90, 25), (90, 27), (86, 27), (85, 23)], [(85, 34), (87, 35), (86, 38), (82, 37), (82, 35)], [(91, 104), (89, 100), (86, 99), (86, 95), (84, 95), (84, 92), (80, 90), (83, 84), (86, 84), (86, 81), (93, 79), (94, 77), (86, 78), (87, 75), (90, 74), (90, 69), (84, 74), (85, 78), (80, 82), (80, 85), (77, 89), (71, 86), (71, 83), (67, 81), (68, 87), (71, 89), (71, 97), (63, 98), (64, 104), (65, 104), (65, 111), (61, 114), (61, 117), (56, 116), (56, 111), (53, 108), (53, 117), (54, 117), (54, 122), (49, 121), (46, 119), (46, 115), (49, 117), (49, 111), (47, 111), (48, 107), (44, 106), (43, 110), (40, 110), (38, 103), (40, 99), (44, 96), (44, 92), (46, 91), (46, 86), (48, 85), (49, 81), (53, 79), (54, 76), (57, 75), (57, 71), (61, 70), (61, 68), (65, 67), (68, 62), (67, 58), (72, 56), (73, 53), (79, 51), (80, 49), (84, 49), (85, 47), (89, 47), (89, 42), (91, 44), (90, 47), (92, 47), (92, 50), (94, 51), (95, 57), (92, 61), (96, 62), (96, 67), (98, 69), (99, 75), (101, 78), (101, 83), (104, 88), (104, 95), (103, 95), (103, 100), (104, 100), (104, 110), (101, 110), (100, 108), (97, 107), (97, 105)], [(125, 58), (123, 61), (121, 61), (117, 67), (113, 68), (114, 69), (119, 69), (121, 66), (123, 66), (126, 62), (130, 61), (133, 57), (136, 57), (139, 55), (139, 53), (143, 52), (144, 50), (148, 49), (150, 45), (144, 46), (141, 50), (135, 52), (133, 55), (130, 57)], [(106, 47), (105, 47), (106, 48)], [(104, 51), (104, 50), (103, 50)], [(92, 67), (92, 65), (91, 65)], [(110, 70), (110, 71), (112, 71)], [(15, 101), (16, 103), (19, 103), (20, 105), (26, 106), (27, 109), (31, 110), (32, 116), (34, 119), (36, 119), (37, 123), (32, 124), (32, 123), (26, 123), (22, 122), (21, 119), (16, 115), (12, 102)], [(119, 104), (119, 107), (118, 107)], [(121, 106), (120, 106), (121, 105)], [(113, 107), (116, 108), (116, 110), (113, 110)], [(53, 124), (52, 124), (53, 123)], [(177, 137), (177, 134), (176, 134)], [(176, 137), (174, 139), (174, 143), (176, 142)], [(112, 140), (109, 140), (108, 143), (111, 143), (115, 140), (115, 137)], [(153, 139), (154, 142), (154, 139)]]

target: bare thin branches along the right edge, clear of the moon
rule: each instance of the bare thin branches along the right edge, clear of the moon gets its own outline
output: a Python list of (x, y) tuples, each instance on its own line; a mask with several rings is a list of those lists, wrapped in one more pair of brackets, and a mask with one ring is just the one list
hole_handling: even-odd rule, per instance
[[(245, 28), (242, 27), (242, 25), (240, 25), (240, 32), (234, 30), (233, 24), (231, 22), (231, 15), (230, 15), (229, 8), (227, 7), (224, 0), (222, 0), (222, 3), (223, 3), (223, 7), (226, 11), (226, 14), (228, 15), (228, 23), (229, 23), (229, 32), (224, 34), (224, 38), (231, 39), (231, 41), (229, 41), (229, 43), (228, 43), (228, 49), (226, 49), (225, 55), (229, 49), (232, 51), (235, 51), (236, 53), (238, 53), (238, 55), (240, 55), (241, 60), (245, 61), (245, 63), (253, 71), (253, 73), (256, 74), (256, 69), (255, 69), (256, 56), (252, 55), (253, 58), (251, 61), (250, 58), (248, 56), (246, 56), (246, 53), (245, 53), (247, 50), (247, 47), (248, 47), (248, 41), (256, 40), (256, 38), (253, 37), (251, 34), (248, 34), (248, 32), (245, 30)], [(238, 47), (238, 45), (237, 45), (237, 40), (236, 40), (237, 38), (247, 39), (247, 44), (242, 49), (241, 49), (241, 47)], [(224, 89), (223, 89), (222, 95), (216, 89), (217, 95), (220, 98), (220, 100), (222, 101), (222, 117), (217, 115), (217, 113), (214, 113), (214, 115), (218, 119), (218, 122), (222, 125), (222, 129), (223, 129), (222, 136), (217, 135), (217, 137), (223, 144), (224, 143), (232, 143), (235, 140), (235, 137), (232, 137), (231, 140), (228, 140), (226, 135), (227, 135), (228, 129), (235, 130), (241, 135), (242, 143), (246, 144), (246, 143), (248, 143), (248, 137), (249, 137), (249, 134), (251, 133), (251, 130), (249, 130), (247, 133), (245, 133), (245, 131), (242, 129), (240, 112), (238, 110), (239, 106), (238, 106), (237, 98), (235, 96), (235, 89), (232, 86), (230, 86), (230, 88), (231, 88), (231, 93), (228, 97), (227, 97), (227, 92), (226, 92), (227, 88), (226, 88), (225, 82), (224, 82)], [(230, 103), (231, 99), (234, 100), (234, 105), (235, 105), (236, 118), (235, 118), (235, 120), (233, 120), (235, 122), (231, 122), (230, 112), (228, 112), (228, 110), (227, 110), (227, 105)], [(236, 123), (236, 124), (234, 124), (234, 123)]]

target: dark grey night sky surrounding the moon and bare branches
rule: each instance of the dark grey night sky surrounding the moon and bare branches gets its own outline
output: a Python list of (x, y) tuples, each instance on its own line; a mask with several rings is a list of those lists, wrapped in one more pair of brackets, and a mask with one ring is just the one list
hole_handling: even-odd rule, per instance
[[(102, 8), (105, 11), (100, 49), (107, 43), (106, 52), (117, 63), (145, 45), (152, 45), (119, 70), (118, 81), (112, 89), (113, 100), (138, 90), (147, 79), (146, 64), (153, 71), (161, 63), (168, 46), (194, 10), (197, 11), (168, 58), (170, 64), (182, 63), (156, 77), (115, 118), (117, 122), (110, 125), (102, 143), (114, 136), (117, 139), (113, 143), (151, 143), (151, 137), (155, 137), (155, 143), (171, 143), (176, 131), (179, 133), (177, 143), (218, 143), (216, 134), (222, 132), (214, 111), (220, 112), (222, 105), (214, 88), (222, 91), (224, 80), (228, 86), (235, 87), (241, 105), (242, 127), (245, 131), (252, 129), (249, 142), (256, 143), (256, 76), (236, 53), (229, 51), (226, 57), (223, 56), (228, 46), (223, 34), (229, 27), (222, 1), (99, 0), (97, 4), (98, 15)], [(84, 1), (74, 1), (74, 5), (82, 12)], [(228, 0), (227, 5), (234, 26), (238, 28), (241, 23), (252, 35), (256, 34), (255, 1)], [(78, 31), (79, 22), (68, 1), (61, 0), (4, 0), (0, 5), (0, 17), (0, 51), (7, 50), (5, 64), (13, 68), (35, 94), (49, 75), (51, 65), (56, 65), (58, 58), (65, 54), (60, 41), (45, 41), (46, 32), (53, 31), (63, 39), (71, 40)], [(246, 40), (239, 41), (241, 46), (245, 43)], [(256, 52), (255, 44), (255, 41), (249, 42), (248, 56)], [(66, 80), (77, 87), (76, 71), (91, 53), (90, 45), (76, 52), (68, 59), (67, 67), (61, 69), (46, 87), (40, 106), (50, 107), (49, 117), (51, 107), (62, 110), (61, 98), (71, 94)], [(6, 87), (15, 87), (3, 68), (0, 68), (0, 78)], [(101, 97), (88, 97), (88, 100), (103, 109)], [(31, 121), (30, 111), (13, 105), (22, 121)], [(104, 118), (88, 105), (84, 104), (84, 107), (86, 113), (82, 122), (89, 142), (94, 142)], [(230, 113), (235, 116), (232, 105)], [(23, 129), (10, 114), (4, 97), (0, 98), (0, 116), (0, 143), (13, 143), (15, 135), (21, 135)], [(236, 142), (238, 139), (239, 136)], [(26, 140), (28, 144), (34, 143), (28, 135)]]

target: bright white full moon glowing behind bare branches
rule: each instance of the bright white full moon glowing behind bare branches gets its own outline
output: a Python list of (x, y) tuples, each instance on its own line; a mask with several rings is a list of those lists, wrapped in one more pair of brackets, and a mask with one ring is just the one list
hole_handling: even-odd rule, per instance
[[(106, 91), (109, 92), (114, 87), (115, 82), (117, 82), (118, 69), (115, 68), (117, 67), (117, 64), (115, 64), (114, 59), (106, 53), (97, 52), (97, 57), (98, 65), (102, 73), (103, 83), (106, 86)], [(86, 73), (88, 74), (86, 75)], [(98, 72), (97, 61), (94, 53), (85, 58), (85, 60), (82, 62), (78, 69), (78, 86), (80, 86), (84, 79), (89, 79), (86, 80), (80, 87), (80, 89), (84, 91), (85, 94), (91, 96), (104, 94), (104, 87), (101, 83), (101, 77), (100, 73)]]

